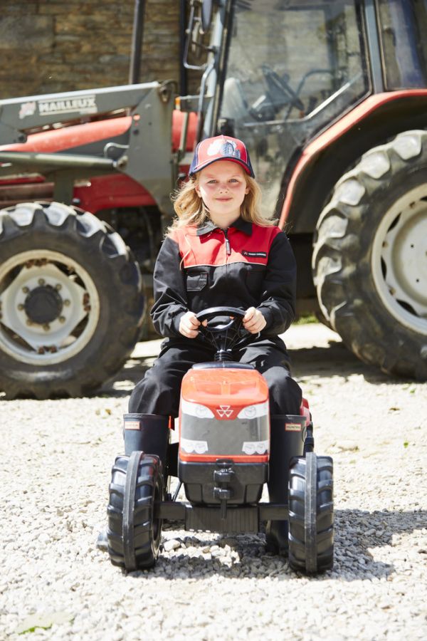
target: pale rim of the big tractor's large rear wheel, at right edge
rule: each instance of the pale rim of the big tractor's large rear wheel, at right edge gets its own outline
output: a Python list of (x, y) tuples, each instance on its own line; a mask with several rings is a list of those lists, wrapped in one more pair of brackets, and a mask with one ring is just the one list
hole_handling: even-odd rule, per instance
[(427, 186), (407, 192), (381, 220), (372, 246), (381, 301), (399, 323), (427, 334)]

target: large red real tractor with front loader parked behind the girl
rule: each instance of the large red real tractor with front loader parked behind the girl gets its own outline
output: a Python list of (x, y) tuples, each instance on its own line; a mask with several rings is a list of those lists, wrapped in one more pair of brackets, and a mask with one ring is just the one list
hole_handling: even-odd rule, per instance
[(0, 101), (0, 390), (85, 395), (117, 372), (144, 336), (169, 194), (217, 132), (248, 145), (300, 313), (426, 380), (426, 0), (190, 0), (187, 17), (197, 95)]

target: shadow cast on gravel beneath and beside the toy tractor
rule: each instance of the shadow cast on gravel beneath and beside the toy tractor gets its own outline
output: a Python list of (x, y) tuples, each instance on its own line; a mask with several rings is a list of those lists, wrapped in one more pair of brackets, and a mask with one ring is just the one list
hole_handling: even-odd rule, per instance
[[(388, 578), (396, 573), (394, 562), (405, 561), (394, 535), (411, 533), (426, 525), (427, 512), (394, 512), (337, 510), (335, 513), (334, 568), (310, 580), (372, 580)], [(153, 570), (137, 571), (130, 576), (150, 578), (206, 579), (213, 575), (223, 578), (278, 578), (290, 580), (305, 575), (290, 569), (288, 561), (265, 551), (263, 535), (212, 536), (201, 541), (196, 533), (179, 531), (180, 523), (165, 524), (164, 533), (174, 532), (181, 544), (171, 556), (161, 553)], [(170, 538), (168, 536), (167, 538)], [(163, 539), (166, 541), (166, 537)], [(375, 561), (371, 552), (389, 546), (389, 563)], [(224, 549), (226, 548), (226, 549)], [(407, 546), (404, 548), (407, 549)], [(384, 551), (383, 551), (384, 553)], [(420, 561), (427, 558), (427, 546), (418, 548)]]

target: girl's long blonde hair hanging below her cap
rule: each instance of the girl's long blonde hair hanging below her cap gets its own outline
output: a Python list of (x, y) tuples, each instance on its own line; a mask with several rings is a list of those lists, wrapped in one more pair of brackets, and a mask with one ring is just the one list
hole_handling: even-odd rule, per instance
[[(261, 189), (258, 182), (246, 174), (246, 172), (244, 175), (246, 186), (249, 187), (249, 192), (241, 204), (241, 217), (247, 222), (253, 222), (264, 227), (275, 224), (274, 220), (263, 217), (259, 211)], [(198, 181), (199, 174), (195, 174), (195, 176), (191, 176), (187, 182), (184, 182), (182, 186), (172, 194), (176, 218), (169, 229), (167, 229), (167, 236), (171, 234), (174, 229), (179, 229), (186, 225), (199, 226), (209, 220), (209, 209), (207, 209), (203, 200), (196, 192)]]

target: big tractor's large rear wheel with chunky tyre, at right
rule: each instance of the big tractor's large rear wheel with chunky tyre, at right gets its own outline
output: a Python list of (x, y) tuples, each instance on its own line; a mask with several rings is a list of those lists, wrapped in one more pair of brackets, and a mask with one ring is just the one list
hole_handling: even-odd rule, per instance
[(367, 152), (317, 222), (313, 274), (327, 323), (365, 363), (427, 380), (427, 132)]

